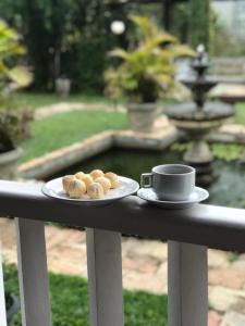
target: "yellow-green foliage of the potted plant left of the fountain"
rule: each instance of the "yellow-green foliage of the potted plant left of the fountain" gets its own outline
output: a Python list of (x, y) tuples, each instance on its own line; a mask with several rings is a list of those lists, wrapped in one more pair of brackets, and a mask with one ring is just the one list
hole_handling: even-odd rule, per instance
[(131, 51), (109, 52), (109, 57), (120, 58), (122, 62), (113, 72), (105, 74), (106, 82), (110, 90), (121, 88), (130, 97), (133, 90), (138, 98), (147, 92), (150, 100), (156, 100), (160, 96), (159, 85), (167, 90), (174, 83), (174, 60), (196, 53), (179, 45), (174, 36), (161, 30), (148, 17), (131, 16), (131, 20), (140, 32), (138, 46)]

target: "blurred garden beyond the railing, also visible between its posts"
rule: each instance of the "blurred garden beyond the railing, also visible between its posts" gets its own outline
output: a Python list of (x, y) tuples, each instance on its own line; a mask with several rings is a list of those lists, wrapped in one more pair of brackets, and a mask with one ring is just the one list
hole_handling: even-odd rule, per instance
[[(36, 185), (101, 168), (139, 181), (155, 165), (182, 163), (196, 168), (208, 204), (244, 209), (245, 22), (238, 4), (225, 1), (228, 20), (220, 2), (2, 0), (1, 179)], [(1, 220), (8, 309), (20, 297), (16, 239), (13, 221)], [(75, 236), (84, 229), (47, 223), (46, 231), (59, 239), (48, 247), (53, 326), (89, 325)], [(168, 325), (158, 246), (167, 250), (166, 239), (123, 237), (126, 326)], [(210, 250), (210, 326), (245, 325), (242, 267), (243, 254)], [(16, 305), (9, 326), (23, 325)]]

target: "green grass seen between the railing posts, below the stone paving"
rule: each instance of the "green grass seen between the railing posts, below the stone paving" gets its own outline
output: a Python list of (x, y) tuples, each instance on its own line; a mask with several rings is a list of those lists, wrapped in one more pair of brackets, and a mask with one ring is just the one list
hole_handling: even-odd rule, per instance
[[(53, 326), (88, 326), (87, 281), (51, 273), (49, 278)], [(4, 286), (19, 294), (17, 272), (12, 265), (4, 265)], [(167, 326), (167, 296), (124, 291), (124, 304), (125, 326)], [(20, 314), (14, 325), (21, 326)]]

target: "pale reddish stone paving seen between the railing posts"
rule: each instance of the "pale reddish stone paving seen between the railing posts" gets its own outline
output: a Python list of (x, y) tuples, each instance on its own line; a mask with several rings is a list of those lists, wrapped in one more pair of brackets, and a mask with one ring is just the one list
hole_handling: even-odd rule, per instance
[[(3, 260), (16, 263), (12, 220), (0, 218)], [(46, 226), (48, 268), (53, 273), (87, 277), (85, 233)], [(167, 244), (123, 238), (123, 286), (131, 290), (167, 293)], [(209, 326), (245, 325), (245, 254), (209, 250)]]

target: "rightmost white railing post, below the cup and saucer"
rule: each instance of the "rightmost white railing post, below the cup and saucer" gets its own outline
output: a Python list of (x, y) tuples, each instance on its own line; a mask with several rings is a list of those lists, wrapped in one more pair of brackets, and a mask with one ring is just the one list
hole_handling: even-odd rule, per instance
[(207, 248), (175, 241), (168, 247), (169, 326), (207, 326)]

